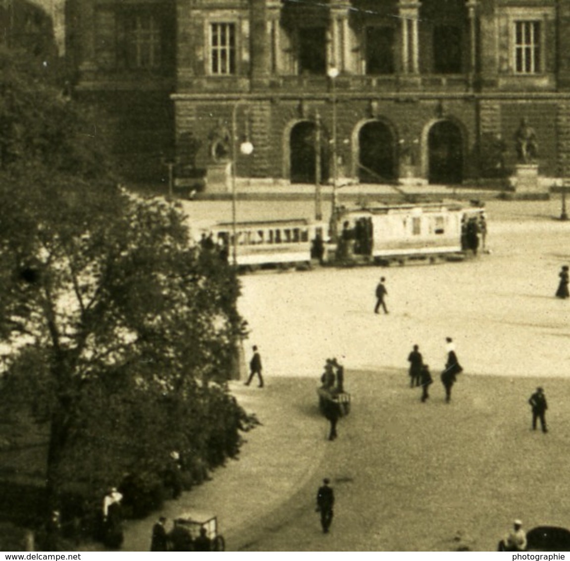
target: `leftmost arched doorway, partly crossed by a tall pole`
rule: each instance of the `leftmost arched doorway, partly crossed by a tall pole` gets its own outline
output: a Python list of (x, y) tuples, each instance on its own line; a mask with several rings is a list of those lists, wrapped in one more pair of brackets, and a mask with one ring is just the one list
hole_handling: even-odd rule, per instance
[[(291, 183), (315, 183), (316, 179), (316, 124), (301, 121), (291, 129), (290, 135), (290, 179)], [(321, 181), (328, 179), (327, 135), (321, 128)]]

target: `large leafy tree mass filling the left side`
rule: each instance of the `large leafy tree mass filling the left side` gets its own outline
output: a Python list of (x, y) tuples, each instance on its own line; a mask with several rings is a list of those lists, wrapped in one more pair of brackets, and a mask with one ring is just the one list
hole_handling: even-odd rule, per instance
[(189, 469), (234, 456), (233, 269), (175, 204), (116, 186), (89, 115), (40, 72), (0, 53), (0, 94), (3, 390), (49, 423), (52, 501), (160, 477), (173, 450)]

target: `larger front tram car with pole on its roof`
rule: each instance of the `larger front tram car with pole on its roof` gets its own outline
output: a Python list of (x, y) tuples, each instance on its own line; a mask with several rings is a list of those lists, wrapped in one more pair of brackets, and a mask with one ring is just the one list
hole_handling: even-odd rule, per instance
[(376, 264), (460, 260), (467, 249), (477, 251), (485, 220), (483, 207), (458, 203), (343, 207), (336, 213), (337, 242), (329, 248), (328, 259)]

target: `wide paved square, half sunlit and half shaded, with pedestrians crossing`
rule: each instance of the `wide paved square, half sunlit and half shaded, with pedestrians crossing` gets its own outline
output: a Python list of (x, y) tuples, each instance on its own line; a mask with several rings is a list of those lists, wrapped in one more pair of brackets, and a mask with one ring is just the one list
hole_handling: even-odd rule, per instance
[[(570, 225), (552, 220), (556, 201), (503, 205), (490, 205), (500, 220), (490, 221), (491, 255), (478, 260), (242, 277), (240, 308), (267, 388), (236, 391), (264, 426), (247, 436), (238, 462), (169, 503), (166, 515), (213, 510), (230, 549), (262, 551), (486, 550), (516, 516), (528, 526), (570, 525), (554, 500), (568, 491), (560, 475), (567, 380), (544, 382), (559, 426), (548, 441), (532, 438), (526, 406), (537, 379), (567, 375), (570, 302), (553, 293), (570, 262)], [(387, 317), (372, 313), (380, 274)], [(447, 335), (466, 369), (463, 405), (434, 399), (424, 417), (400, 386), (402, 365), (417, 342), (437, 372)], [(344, 361), (357, 399), (335, 448), (314, 406), (329, 356)], [(313, 507), (325, 474), (340, 501), (327, 541)], [(125, 546), (148, 548), (150, 526), (133, 524)]]

